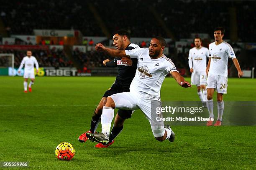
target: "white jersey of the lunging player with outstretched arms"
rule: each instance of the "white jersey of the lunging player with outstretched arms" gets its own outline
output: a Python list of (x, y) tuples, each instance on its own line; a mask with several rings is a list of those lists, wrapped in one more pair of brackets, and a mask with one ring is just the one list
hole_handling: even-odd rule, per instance
[(151, 59), (149, 49), (136, 48), (125, 50), (125, 54), (131, 58), (137, 58), (137, 70), (130, 91), (137, 92), (145, 97), (160, 98), (160, 89), (164, 78), (169, 72), (177, 71), (171, 59), (163, 55), (157, 59)]

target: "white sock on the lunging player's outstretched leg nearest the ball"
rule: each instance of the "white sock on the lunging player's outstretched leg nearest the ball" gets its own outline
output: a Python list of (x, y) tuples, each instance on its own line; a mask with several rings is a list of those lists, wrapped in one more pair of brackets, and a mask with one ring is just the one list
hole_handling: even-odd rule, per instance
[(103, 106), (101, 120), (102, 133), (109, 137), (109, 132), (111, 128), (111, 122), (114, 118), (114, 109), (111, 107)]

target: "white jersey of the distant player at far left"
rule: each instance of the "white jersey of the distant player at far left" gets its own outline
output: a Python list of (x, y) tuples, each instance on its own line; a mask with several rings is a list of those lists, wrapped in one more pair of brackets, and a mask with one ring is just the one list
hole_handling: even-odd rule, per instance
[(34, 64), (36, 65), (36, 69), (38, 70), (38, 62), (36, 60), (36, 57), (23, 57), (18, 70), (20, 70), (23, 65), (25, 65), (24, 72), (34, 72)]

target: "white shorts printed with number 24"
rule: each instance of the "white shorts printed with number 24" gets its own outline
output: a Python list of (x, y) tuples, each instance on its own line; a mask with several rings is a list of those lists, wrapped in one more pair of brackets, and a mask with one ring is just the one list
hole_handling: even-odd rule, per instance
[(228, 77), (208, 75), (206, 88), (214, 88), (218, 93), (227, 94)]

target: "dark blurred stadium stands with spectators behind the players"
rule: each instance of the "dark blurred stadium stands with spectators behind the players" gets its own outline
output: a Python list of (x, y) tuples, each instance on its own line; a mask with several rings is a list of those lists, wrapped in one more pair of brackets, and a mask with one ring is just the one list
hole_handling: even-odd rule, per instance
[[(111, 45), (111, 34), (119, 29), (128, 30), (132, 37), (169, 37), (172, 41), (167, 45), (168, 57), (177, 67), (188, 69), (187, 55), (193, 47), (192, 33), (209, 35), (204, 39), (207, 46), (213, 39), (213, 28), (221, 25), (227, 30), (225, 39), (230, 40), (232, 45), (236, 46), (236, 42), (255, 42), (255, 9), (256, 3), (249, 0), (12, 0), (1, 2), (0, 27), (5, 28), (9, 37), (33, 35), (34, 29), (79, 30), (85, 37), (107, 37), (105, 45)], [(4, 35), (0, 35), (0, 43), (1, 37)], [(190, 42), (175, 46), (177, 41), (183, 39)], [(79, 45), (88, 47), (89, 41)], [(141, 42), (137, 43), (140, 45)], [(15, 40), (15, 44), (28, 43)], [(237, 47), (238, 57), (244, 55), (241, 52), (243, 48), (245, 45)], [(0, 53), (3, 52), (15, 54), (15, 67), (25, 55), (24, 50), (0, 50)], [(103, 53), (90, 50), (71, 50), (70, 54), (66, 50), (33, 50), (42, 67), (102, 67), (102, 60), (108, 58)], [(247, 54), (254, 55), (250, 52)], [(0, 62), (3, 63), (3, 59)], [(254, 66), (251, 62), (241, 63), (243, 68)]]

